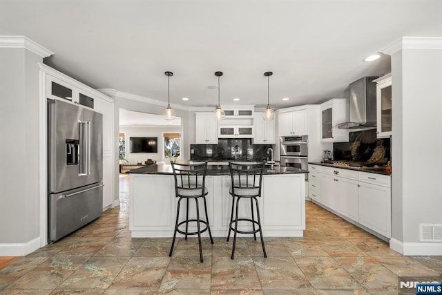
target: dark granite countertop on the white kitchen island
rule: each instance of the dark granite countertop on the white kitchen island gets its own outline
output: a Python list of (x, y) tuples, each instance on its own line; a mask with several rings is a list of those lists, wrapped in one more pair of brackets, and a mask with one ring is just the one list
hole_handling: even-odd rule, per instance
[[(172, 166), (171, 164), (156, 164), (144, 166), (142, 168), (131, 169), (126, 173), (135, 173), (135, 174), (169, 174), (172, 175)], [(274, 169), (271, 170), (270, 166), (265, 166), (262, 172), (263, 175), (271, 175), (271, 174), (295, 174), (295, 173), (309, 173), (309, 171), (302, 170), (294, 167), (286, 167), (286, 166), (274, 166)], [(228, 165), (208, 165), (206, 175), (230, 175), (229, 166)]]

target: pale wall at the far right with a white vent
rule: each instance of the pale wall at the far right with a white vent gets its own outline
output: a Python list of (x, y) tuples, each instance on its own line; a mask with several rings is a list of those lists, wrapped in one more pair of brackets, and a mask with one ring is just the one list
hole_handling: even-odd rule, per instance
[(392, 55), (392, 90), (392, 236), (407, 249), (421, 223), (442, 224), (442, 48)]

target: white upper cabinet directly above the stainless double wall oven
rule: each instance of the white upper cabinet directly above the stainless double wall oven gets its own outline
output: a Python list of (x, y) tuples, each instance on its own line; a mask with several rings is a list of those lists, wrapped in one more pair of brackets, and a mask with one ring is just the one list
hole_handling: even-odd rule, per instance
[(278, 130), (280, 136), (307, 135), (307, 109), (296, 111), (280, 110)]

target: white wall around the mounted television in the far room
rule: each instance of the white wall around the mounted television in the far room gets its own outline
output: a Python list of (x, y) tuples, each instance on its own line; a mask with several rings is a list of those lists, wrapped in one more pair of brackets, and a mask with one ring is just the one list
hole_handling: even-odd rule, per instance
[[(126, 160), (131, 164), (137, 164), (137, 162), (142, 162), (147, 159), (152, 159), (156, 161), (164, 160), (162, 155), (164, 155), (164, 142), (163, 133), (164, 132), (181, 132), (181, 126), (162, 126), (162, 127), (141, 127), (141, 126), (120, 126), (120, 133), (126, 133)], [(130, 149), (130, 137), (158, 137), (158, 152), (157, 153), (131, 153)]]

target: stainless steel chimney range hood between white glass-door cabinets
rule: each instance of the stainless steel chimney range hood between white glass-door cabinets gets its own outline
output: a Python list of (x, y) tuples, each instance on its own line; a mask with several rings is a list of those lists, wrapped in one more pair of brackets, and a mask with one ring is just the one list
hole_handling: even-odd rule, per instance
[(350, 122), (338, 124), (338, 129), (376, 128), (376, 83), (378, 77), (363, 77), (349, 85)]

